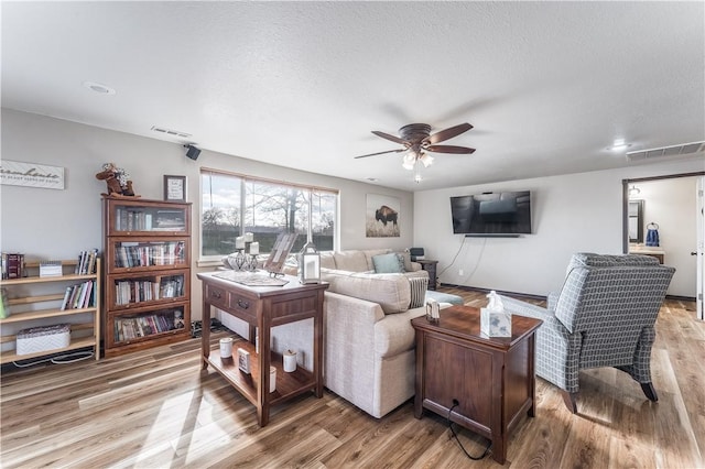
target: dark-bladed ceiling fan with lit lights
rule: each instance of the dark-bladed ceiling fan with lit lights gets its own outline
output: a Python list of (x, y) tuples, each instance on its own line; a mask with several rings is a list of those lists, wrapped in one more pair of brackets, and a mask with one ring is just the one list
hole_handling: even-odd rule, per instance
[(372, 130), (372, 133), (382, 139), (390, 140), (394, 143), (403, 145), (399, 150), (388, 150), (384, 152), (370, 153), (366, 155), (355, 156), (356, 159), (382, 155), (386, 153), (400, 153), (406, 152), (404, 155), (402, 166), (406, 170), (413, 170), (416, 165), (416, 161), (423, 163), (424, 166), (429, 166), (433, 162), (433, 156), (426, 152), (433, 153), (455, 153), (455, 154), (470, 154), (475, 152), (475, 149), (467, 146), (455, 145), (437, 145), (436, 143), (444, 142), (453, 139), (463, 132), (467, 132), (473, 129), (469, 123), (460, 123), (458, 126), (451, 127), (440, 132), (431, 134), (431, 126), (427, 123), (410, 123), (399, 129), (401, 137), (390, 135), (389, 133)]

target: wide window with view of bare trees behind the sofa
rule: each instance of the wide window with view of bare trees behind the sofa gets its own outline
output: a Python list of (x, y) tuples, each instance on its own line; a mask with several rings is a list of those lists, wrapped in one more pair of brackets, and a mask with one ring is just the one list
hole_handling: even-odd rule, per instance
[(333, 250), (338, 193), (238, 174), (202, 170), (200, 258), (220, 260), (236, 251), (235, 240), (253, 234), (267, 254), (280, 232), (297, 232), (292, 252), (308, 230), (318, 250)]

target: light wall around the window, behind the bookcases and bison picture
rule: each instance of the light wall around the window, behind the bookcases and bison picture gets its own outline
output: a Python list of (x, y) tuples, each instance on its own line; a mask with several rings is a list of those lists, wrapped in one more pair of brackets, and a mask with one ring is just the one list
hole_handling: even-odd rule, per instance
[[(197, 161), (181, 144), (115, 132), (64, 120), (2, 109), (2, 159), (65, 168), (64, 190), (0, 186), (0, 249), (28, 259), (73, 259), (89, 248), (102, 248), (101, 199), (106, 184), (95, 175), (115, 162), (131, 173), (142, 198), (163, 199), (163, 175), (185, 175), (193, 201), (193, 247), (199, 247), (199, 168), (227, 170), (252, 176), (312, 184), (340, 190), (339, 249), (405, 249), (413, 240), (413, 195), (372, 184), (274, 166), (252, 160), (202, 151)], [(399, 238), (366, 238), (367, 194), (398, 197)], [(200, 282), (194, 269), (194, 318), (200, 318)]]

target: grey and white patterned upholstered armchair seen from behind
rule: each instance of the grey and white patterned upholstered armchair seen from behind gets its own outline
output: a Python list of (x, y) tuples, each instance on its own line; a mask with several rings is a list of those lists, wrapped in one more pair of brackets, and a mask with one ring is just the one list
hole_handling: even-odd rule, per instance
[(543, 319), (536, 332), (536, 374), (562, 390), (577, 412), (579, 370), (615, 367), (629, 373), (648, 399), (654, 324), (675, 269), (646, 255), (574, 254), (560, 294), (547, 308), (502, 296), (512, 314)]

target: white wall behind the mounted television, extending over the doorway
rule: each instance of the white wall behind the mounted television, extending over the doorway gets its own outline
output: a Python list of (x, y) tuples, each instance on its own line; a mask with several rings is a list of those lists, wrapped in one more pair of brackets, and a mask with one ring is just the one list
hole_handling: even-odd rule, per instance
[[(561, 287), (574, 252), (622, 253), (622, 179), (705, 171), (704, 161), (701, 155), (674, 163), (417, 192), (414, 246), (423, 247), (426, 258), (438, 260), (442, 283), (545, 295)], [(533, 234), (453, 234), (449, 197), (525, 189), (532, 192)], [(694, 210), (690, 214), (695, 217)], [(682, 274), (683, 284), (693, 287), (686, 293), (679, 282), (669, 294), (695, 296), (695, 269)]]

